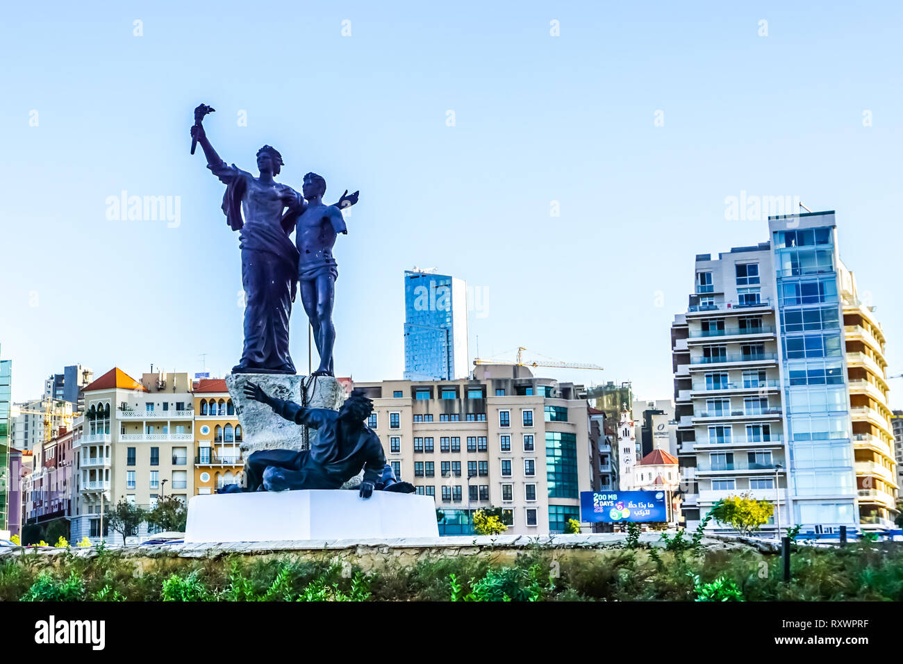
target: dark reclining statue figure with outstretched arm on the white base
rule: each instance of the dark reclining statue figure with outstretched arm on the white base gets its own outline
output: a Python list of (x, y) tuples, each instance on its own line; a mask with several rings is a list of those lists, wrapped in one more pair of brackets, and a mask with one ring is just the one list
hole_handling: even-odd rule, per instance
[(241, 485), (224, 493), (241, 491), (286, 491), (290, 489), (340, 489), (342, 484), (364, 470), (360, 497), (373, 491), (414, 493), (414, 485), (398, 482), (379, 436), (364, 423), (373, 411), (373, 402), (355, 389), (339, 410), (305, 408), (293, 401), (270, 397), (256, 383), (248, 381), (245, 396), (273, 408), (276, 414), (298, 425), (317, 430), (309, 450), (259, 450), (247, 457)]

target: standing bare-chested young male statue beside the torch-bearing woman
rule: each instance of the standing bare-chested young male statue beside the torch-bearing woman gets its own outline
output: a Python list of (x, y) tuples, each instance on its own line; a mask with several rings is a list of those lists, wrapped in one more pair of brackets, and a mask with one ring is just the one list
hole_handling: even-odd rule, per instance
[[(284, 220), (290, 225), (297, 218), (295, 244), (299, 254), (301, 302), (311, 321), (313, 341), (320, 355), (320, 366), (312, 375), (332, 376), (332, 347), (336, 340), (332, 305), (335, 302), (335, 282), (339, 278), (339, 267), (332, 257), (332, 247), (339, 233), (348, 234), (348, 228), (340, 206), (323, 203), (326, 181), (320, 175), (307, 173), (302, 192), (305, 200), (286, 212)], [(356, 203), (358, 192), (343, 196), (342, 201)]]

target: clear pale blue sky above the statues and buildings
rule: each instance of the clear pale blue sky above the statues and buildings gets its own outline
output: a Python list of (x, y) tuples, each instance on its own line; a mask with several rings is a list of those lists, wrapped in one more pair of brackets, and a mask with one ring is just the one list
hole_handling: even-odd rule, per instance
[[(360, 190), (336, 248), (340, 375), (401, 377), (416, 265), (485, 289), (481, 355), (524, 345), (606, 368), (548, 375), (668, 397), (694, 254), (768, 239), (764, 220), (725, 220), (740, 191), (837, 210), (903, 372), (899, 3), (90, 5), (14, 4), (0, 26), (0, 344), (16, 399), (75, 362), (237, 362), (237, 234), (189, 154), (201, 101), (229, 163), (255, 170), (275, 145), (281, 182), (313, 170), (327, 200)], [(181, 225), (107, 220), (123, 190), (180, 197)], [(301, 369), (300, 306), (292, 320)]]

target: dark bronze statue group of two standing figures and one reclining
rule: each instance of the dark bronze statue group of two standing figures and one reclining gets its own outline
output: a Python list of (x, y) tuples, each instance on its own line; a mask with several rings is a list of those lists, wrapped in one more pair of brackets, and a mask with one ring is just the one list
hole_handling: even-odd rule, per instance
[[(207, 167), (226, 184), (222, 209), (227, 224), (239, 231), (245, 341), (232, 373), (295, 373), (289, 354), (289, 318), (300, 284), (301, 302), (320, 354), (320, 366), (312, 376), (332, 376), (332, 307), (339, 276), (332, 248), (339, 233), (348, 233), (341, 210), (358, 201), (358, 192), (348, 195), (346, 190), (339, 202), (327, 205), (322, 201), (326, 181), (316, 173), (304, 176), (301, 193), (276, 182), (283, 158), (269, 145), (257, 151), (257, 177), (226, 164), (201, 124), (212, 110), (203, 104), (195, 109), (191, 154), (200, 143)], [(245, 396), (297, 425), (317, 429), (318, 435), (311, 448), (301, 452), (275, 449), (250, 454), (243, 482), (228, 487), (228, 492), (339, 489), (361, 469), (361, 498), (370, 498), (373, 491), (414, 491), (410, 483), (398, 482), (386, 463), (379, 436), (366, 424), (373, 402), (360, 390), (354, 390), (338, 411), (270, 397), (250, 381)]]

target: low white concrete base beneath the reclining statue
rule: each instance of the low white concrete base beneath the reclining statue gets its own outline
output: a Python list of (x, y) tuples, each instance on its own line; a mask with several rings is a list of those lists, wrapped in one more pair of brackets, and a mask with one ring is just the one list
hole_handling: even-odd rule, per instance
[(431, 496), (374, 491), (255, 491), (194, 496), (185, 542), (437, 538)]

